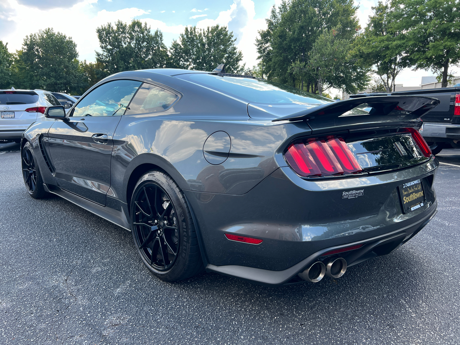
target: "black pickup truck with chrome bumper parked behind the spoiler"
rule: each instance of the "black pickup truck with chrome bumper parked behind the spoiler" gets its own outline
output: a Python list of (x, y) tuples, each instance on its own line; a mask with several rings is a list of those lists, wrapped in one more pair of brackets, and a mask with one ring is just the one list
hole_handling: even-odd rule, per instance
[(431, 152), (434, 155), (437, 155), (444, 148), (460, 149), (460, 86), (426, 90), (359, 93), (351, 95), (350, 98), (377, 95), (411, 95), (439, 99), (441, 103), (421, 117), (423, 127), (420, 134), (430, 145)]

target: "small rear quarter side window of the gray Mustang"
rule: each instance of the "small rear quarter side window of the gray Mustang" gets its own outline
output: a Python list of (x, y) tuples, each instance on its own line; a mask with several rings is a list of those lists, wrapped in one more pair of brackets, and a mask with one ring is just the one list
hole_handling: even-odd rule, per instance
[(132, 98), (125, 115), (155, 113), (168, 109), (179, 95), (159, 86), (144, 83)]

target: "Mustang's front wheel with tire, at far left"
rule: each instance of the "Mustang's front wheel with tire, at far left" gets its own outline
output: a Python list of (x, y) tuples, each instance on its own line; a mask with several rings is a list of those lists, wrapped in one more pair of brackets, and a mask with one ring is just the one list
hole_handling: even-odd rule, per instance
[(35, 199), (47, 197), (48, 193), (43, 188), (40, 169), (35, 161), (32, 146), (29, 142), (24, 145), (21, 157), (24, 184), (26, 185), (29, 195)]

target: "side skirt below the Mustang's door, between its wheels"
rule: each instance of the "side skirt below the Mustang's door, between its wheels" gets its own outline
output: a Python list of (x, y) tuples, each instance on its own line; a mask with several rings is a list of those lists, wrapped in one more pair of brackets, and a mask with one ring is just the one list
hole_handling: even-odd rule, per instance
[[(82, 197), (72, 194), (66, 190), (62, 190), (59, 187), (56, 187), (56, 186), (53, 186), (53, 187), (55, 188), (50, 190), (46, 184), (43, 184), (43, 188), (47, 192), (60, 196), (61, 198), (67, 201), (70, 201), (73, 204), (80, 206), (81, 208), (84, 208), (86, 211), (94, 213), (95, 215), (101, 218), (104, 218), (105, 220), (108, 220), (109, 222), (115, 225), (122, 227), (123, 229), (131, 231), (131, 227), (127, 221), (127, 217), (125, 213), (123, 212), (123, 207), (120, 207), (122, 210), (120, 212), (113, 208), (100, 206), (92, 201), (83, 199)], [(121, 203), (121, 201), (118, 201), (118, 202)]]

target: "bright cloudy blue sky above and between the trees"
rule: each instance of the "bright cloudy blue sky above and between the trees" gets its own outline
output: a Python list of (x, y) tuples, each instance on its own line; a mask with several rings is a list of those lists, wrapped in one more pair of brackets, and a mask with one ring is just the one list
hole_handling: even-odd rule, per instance
[[(163, 32), (164, 42), (171, 45), (188, 25), (206, 28), (210, 25), (226, 25), (237, 38), (236, 45), (243, 53), (247, 66), (257, 63), (254, 42), (259, 29), (265, 29), (265, 18), (270, 8), (281, 0), (1, 0), (0, 40), (8, 43), (10, 52), (21, 49), (25, 35), (39, 29), (52, 27), (77, 44), (80, 59), (95, 60), (98, 50), (96, 28), (108, 22), (133, 18), (147, 22), (152, 30)], [(360, 8), (357, 16), (362, 27), (371, 14), (371, 6), (377, 0), (355, 0)], [(425, 71), (404, 70), (397, 83), (404, 86), (420, 84)]]

